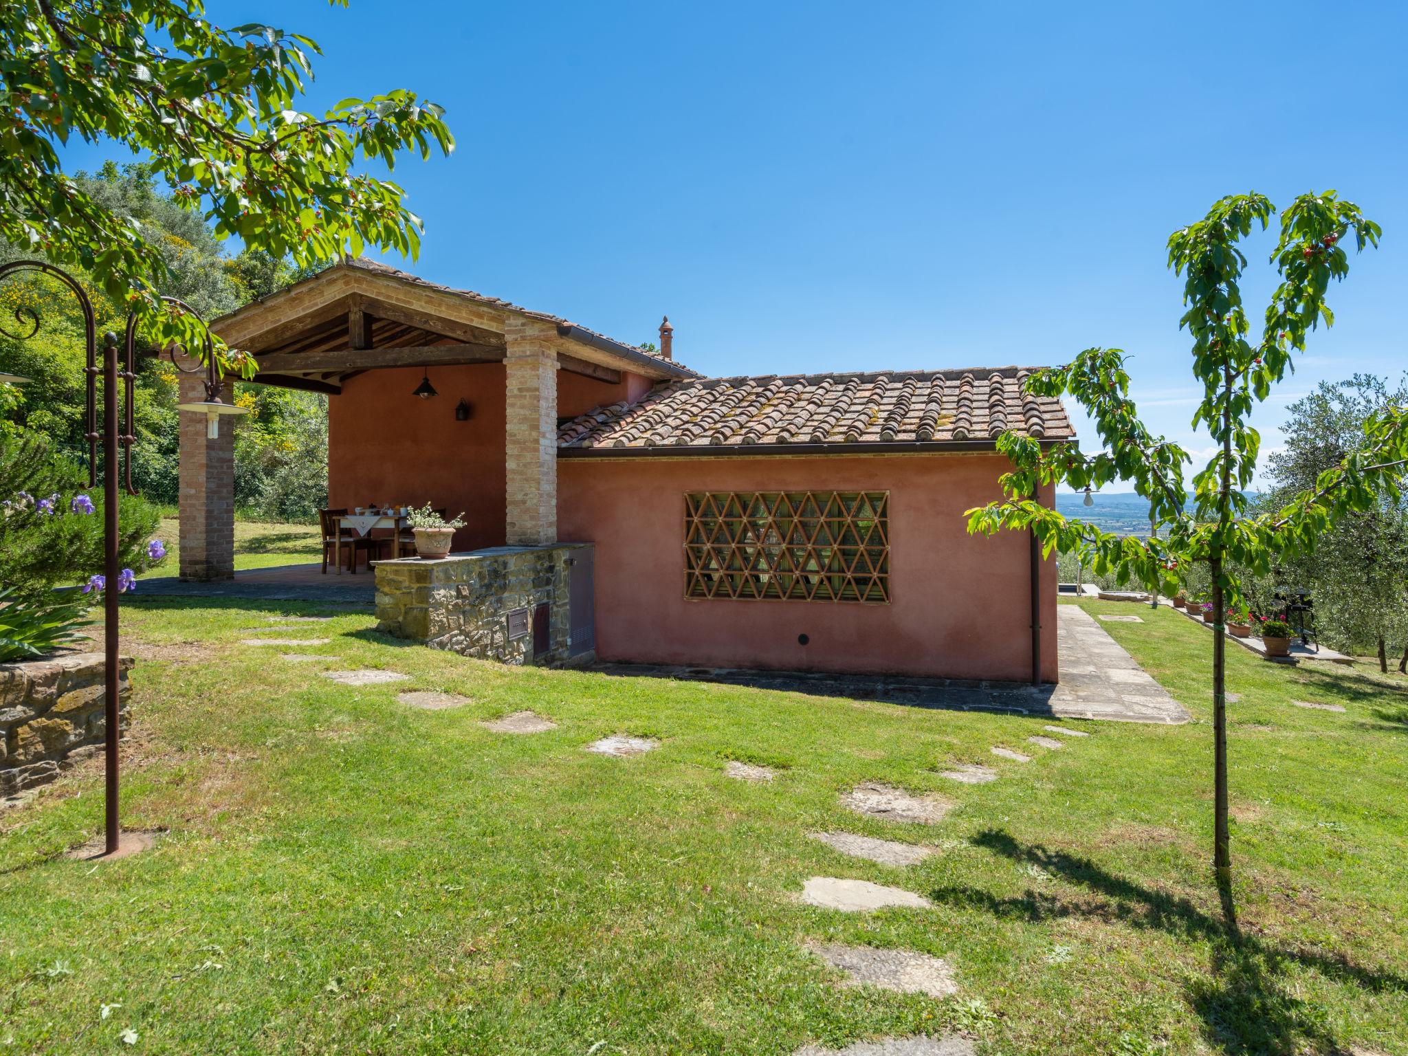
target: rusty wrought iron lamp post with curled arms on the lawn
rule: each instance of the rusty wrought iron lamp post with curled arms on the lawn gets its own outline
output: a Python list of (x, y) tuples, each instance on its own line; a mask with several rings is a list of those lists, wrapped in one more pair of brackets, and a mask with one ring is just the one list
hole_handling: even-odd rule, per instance
[[(132, 360), (137, 355), (135, 341), (137, 341), (137, 315), (130, 314), (127, 317), (127, 335), (124, 348), (118, 349), (117, 334), (111, 331), (103, 335), (103, 363), (99, 366), (97, 362), (97, 320), (93, 313), (93, 301), (89, 300), (87, 293), (83, 286), (68, 272), (61, 268), (55, 268), (44, 260), (14, 260), (7, 265), (0, 265), (0, 282), (7, 279), (10, 275), (17, 272), (39, 272), (58, 279), (69, 291), (77, 298), (79, 307), (83, 311), (83, 339), (87, 365), (83, 367), (84, 375), (84, 422), (87, 431), (83, 438), (87, 441), (89, 446), (89, 487), (97, 486), (97, 446), (99, 441), (103, 442), (103, 658), (104, 658), (104, 673), (103, 673), (103, 704), (104, 704), (104, 722), (106, 722), (106, 743), (104, 743), (104, 758), (106, 758), (106, 779), (107, 779), (107, 797), (104, 810), (104, 828), (106, 828), (106, 853), (113, 855), (117, 852), (121, 842), (121, 828), (118, 825), (118, 677), (121, 672), (118, 670), (118, 576), (120, 576), (120, 553), (118, 553), (118, 487), (127, 490), (128, 494), (135, 496), (137, 490), (132, 487), (132, 444), (137, 436), (132, 431), (132, 383), (137, 380), (137, 373), (132, 370)], [(163, 297), (168, 304), (176, 306), (179, 310), (194, 314), (184, 301), (176, 297)], [(32, 310), (20, 307), (14, 311), (15, 320), (21, 324), (30, 322), (31, 328), (28, 334), (8, 334), (7, 337), (28, 339), (39, 332), (39, 317)], [(220, 375), (220, 367), (215, 365), (215, 358), (213, 355), (213, 346), (210, 342), (210, 335), (206, 337), (206, 365), (207, 372), (206, 379), (206, 400), (203, 403), (177, 404), (179, 410), (183, 411), (197, 411), (207, 415), (210, 422), (208, 435), (211, 438), (218, 435), (220, 415), (222, 414), (244, 414), (245, 408), (232, 407), (220, 398), (222, 380)], [(196, 373), (201, 367), (183, 367), (176, 362), (176, 349), (169, 349), (172, 363), (177, 370), (183, 373)], [(121, 358), (122, 369), (118, 370), (118, 359)], [(97, 377), (103, 376), (103, 427), (99, 431), (97, 421)], [(124, 414), (121, 418), (122, 428), (118, 429), (118, 407), (117, 407), (117, 384), (118, 379), (122, 380), (122, 396), (124, 396)], [(0, 375), (0, 380), (27, 380), (18, 379), (17, 375)], [(121, 467), (121, 469), (120, 469)]]

